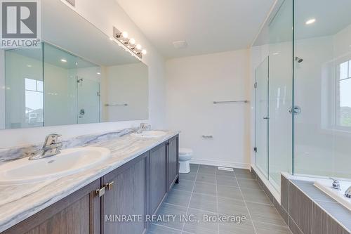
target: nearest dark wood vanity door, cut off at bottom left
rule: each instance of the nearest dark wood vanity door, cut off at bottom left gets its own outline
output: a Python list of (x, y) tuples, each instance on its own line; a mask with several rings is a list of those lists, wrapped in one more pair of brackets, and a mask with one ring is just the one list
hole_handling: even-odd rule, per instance
[(100, 197), (95, 190), (100, 179), (25, 219), (3, 234), (98, 234)]

